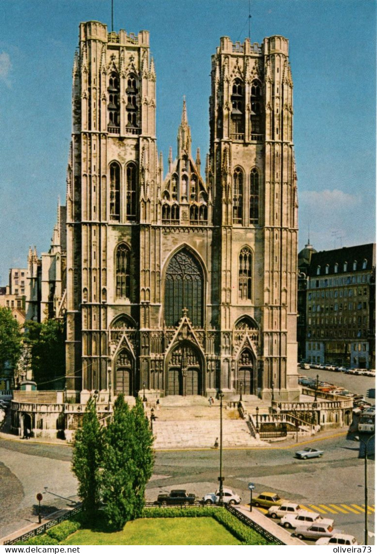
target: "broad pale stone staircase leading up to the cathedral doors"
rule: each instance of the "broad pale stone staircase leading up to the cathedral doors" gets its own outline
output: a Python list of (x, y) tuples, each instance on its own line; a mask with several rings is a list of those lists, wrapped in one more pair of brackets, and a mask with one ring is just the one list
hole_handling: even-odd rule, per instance
[[(267, 445), (252, 436), (238, 408), (223, 401), (223, 448)], [(147, 413), (150, 417), (150, 413)], [(166, 397), (154, 410), (154, 448), (213, 448), (220, 440), (220, 402), (209, 406), (203, 397)]]

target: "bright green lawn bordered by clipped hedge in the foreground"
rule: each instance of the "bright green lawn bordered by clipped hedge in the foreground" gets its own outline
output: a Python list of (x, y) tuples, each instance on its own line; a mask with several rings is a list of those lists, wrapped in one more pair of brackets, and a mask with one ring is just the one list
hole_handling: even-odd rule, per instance
[(241, 542), (212, 517), (161, 517), (129, 521), (123, 531), (116, 533), (80, 529), (68, 537), (63, 544), (240, 545)]

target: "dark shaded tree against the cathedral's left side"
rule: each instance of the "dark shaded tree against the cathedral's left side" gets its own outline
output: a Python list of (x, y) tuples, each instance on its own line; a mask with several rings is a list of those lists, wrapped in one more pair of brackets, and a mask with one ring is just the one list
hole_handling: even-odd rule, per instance
[(28, 321), (25, 340), (30, 345), (33, 378), (40, 390), (64, 388), (65, 325), (58, 319)]

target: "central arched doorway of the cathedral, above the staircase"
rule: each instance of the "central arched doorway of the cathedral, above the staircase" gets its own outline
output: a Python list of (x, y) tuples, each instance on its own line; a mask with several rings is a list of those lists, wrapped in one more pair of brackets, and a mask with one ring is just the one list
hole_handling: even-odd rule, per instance
[(168, 360), (167, 394), (191, 396), (203, 393), (203, 364), (189, 343), (177, 346)]

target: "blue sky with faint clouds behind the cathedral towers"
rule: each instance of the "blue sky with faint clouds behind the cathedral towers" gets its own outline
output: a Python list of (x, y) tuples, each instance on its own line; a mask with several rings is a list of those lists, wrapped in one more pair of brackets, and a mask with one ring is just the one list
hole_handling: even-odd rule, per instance
[[(0, 276), (46, 252), (65, 203), (78, 26), (111, 25), (111, 0), (2, 0)], [(375, 240), (375, 0), (251, 0), (251, 40), (290, 40), (299, 249)], [(114, 30), (151, 33), (157, 140), (167, 168), (186, 96), (193, 152), (208, 152), (211, 54), (249, 35), (249, 0), (114, 0)]]

